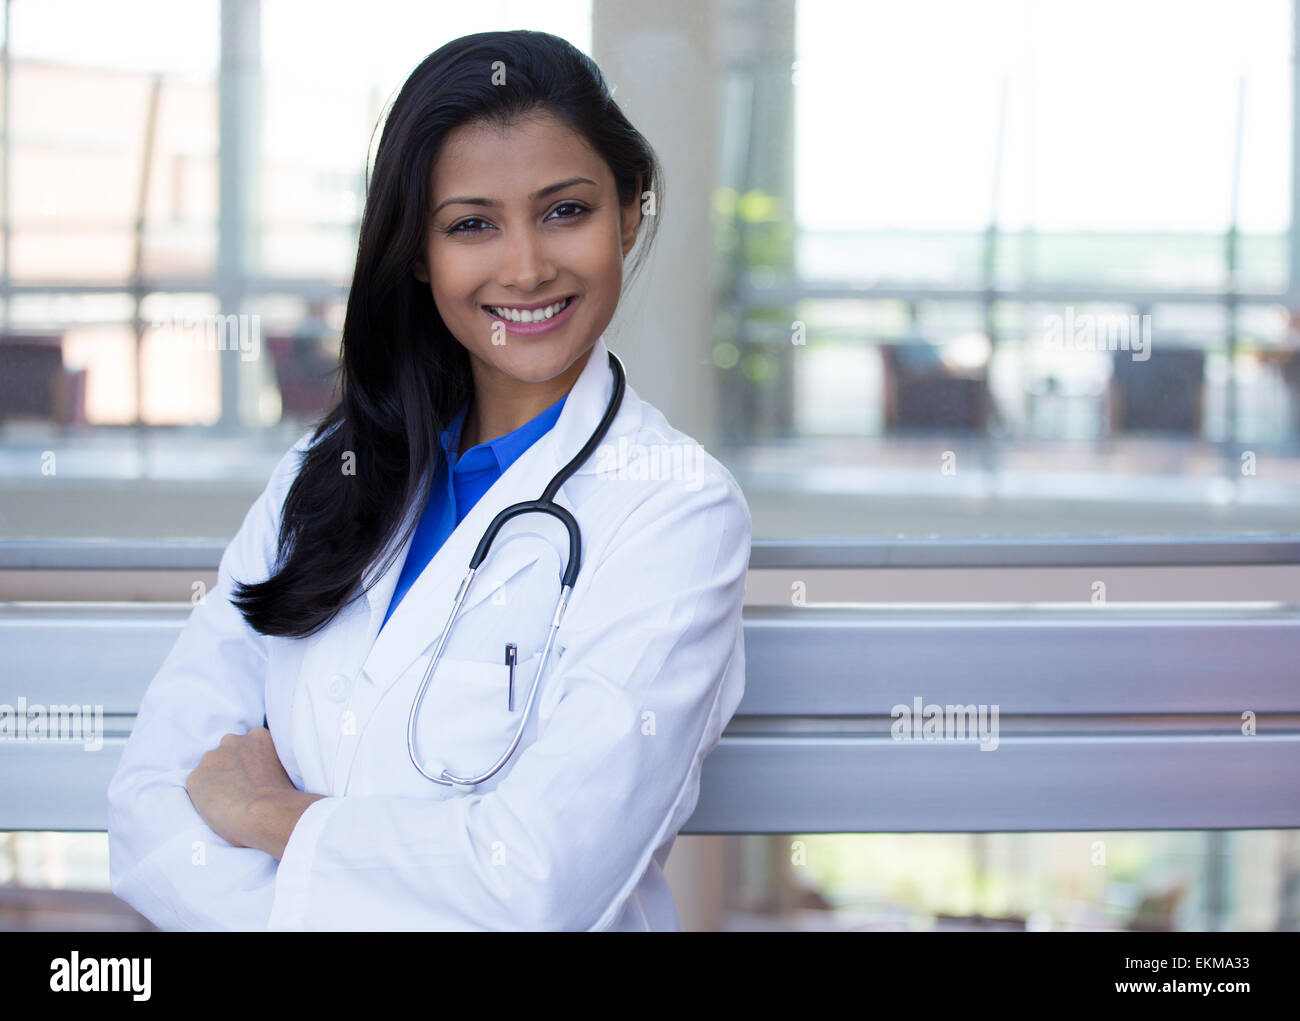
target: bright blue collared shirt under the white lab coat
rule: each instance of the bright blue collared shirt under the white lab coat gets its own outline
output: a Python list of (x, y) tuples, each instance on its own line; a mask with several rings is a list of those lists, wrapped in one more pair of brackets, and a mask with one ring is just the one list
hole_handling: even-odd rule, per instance
[[(442, 544), (455, 531), (456, 525), (464, 520), (465, 515), (486, 493), (504, 471), (514, 464), (519, 457), (536, 444), (541, 437), (551, 431), (564, 407), (566, 394), (546, 411), (532, 421), (520, 425), (515, 432), (506, 433), (497, 440), (472, 446), (459, 458), (456, 450), (460, 449), (460, 428), (465, 421), (465, 412), (469, 410), (467, 402), (451, 424), (442, 431), (443, 457), (438, 460), (438, 468), (433, 477), (433, 488), (429, 492), (429, 501), (425, 503), (424, 514), (411, 537), (411, 546), (407, 550), (406, 563), (402, 574), (398, 575), (396, 588), (393, 590), (393, 600), (389, 602), (389, 611), (384, 615), (384, 624), (387, 624), (393, 611), (402, 602), (411, 585), (420, 576), (420, 572), (429, 564), (433, 555), (442, 549)], [(450, 466), (450, 479), (448, 479)], [(384, 624), (380, 626), (382, 631)]]

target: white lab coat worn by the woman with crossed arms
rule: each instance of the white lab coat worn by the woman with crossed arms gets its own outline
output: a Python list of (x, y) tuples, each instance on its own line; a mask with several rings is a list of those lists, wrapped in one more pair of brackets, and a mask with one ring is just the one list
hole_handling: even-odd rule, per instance
[[(270, 574), (307, 437), (285, 455), (150, 684), (110, 782), (117, 896), (168, 930), (681, 927), (663, 868), (745, 685), (750, 515), (727, 470), (630, 385), (602, 449), (559, 493), (582, 529), (582, 563), (520, 747), (468, 792), (425, 779), (407, 753), (412, 698), (486, 525), (542, 494), (611, 390), (601, 338), (555, 427), (474, 505), (382, 633), (404, 549), (308, 639), (257, 635), (229, 602), (233, 579)], [(620, 444), (624, 477), (611, 471)], [(686, 455), (677, 477), (663, 477), (664, 453)], [(554, 518), (502, 528), (425, 695), (428, 762), (467, 775), (504, 750), (566, 550)], [(507, 641), (519, 648), (515, 713)], [(325, 795), (280, 862), (216, 835), (186, 792), (203, 753), (264, 713), (294, 784)]]

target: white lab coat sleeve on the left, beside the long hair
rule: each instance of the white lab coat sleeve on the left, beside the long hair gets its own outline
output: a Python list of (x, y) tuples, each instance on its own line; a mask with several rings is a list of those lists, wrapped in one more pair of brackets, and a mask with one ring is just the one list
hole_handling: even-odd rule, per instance
[(226, 734), (263, 724), (269, 639), (230, 602), (231, 584), (266, 577), (280, 512), (303, 437), (221, 557), (203, 596), (140, 701), (108, 787), (113, 892), (164, 930), (265, 929), (277, 861), (218, 836), (190, 801), (186, 778)]

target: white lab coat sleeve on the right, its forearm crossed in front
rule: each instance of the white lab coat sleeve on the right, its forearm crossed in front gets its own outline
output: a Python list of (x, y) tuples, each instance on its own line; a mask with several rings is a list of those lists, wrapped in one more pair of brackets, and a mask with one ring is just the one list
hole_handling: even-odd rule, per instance
[[(612, 925), (694, 810), (736, 709), (750, 515), (731, 479), (663, 486), (616, 528), (560, 626), (537, 740), (493, 791), (325, 797), (299, 818), (270, 929)], [(581, 585), (581, 577), (580, 577)], [(554, 657), (554, 653), (552, 653)], [(740, 663), (741, 669), (744, 661)]]

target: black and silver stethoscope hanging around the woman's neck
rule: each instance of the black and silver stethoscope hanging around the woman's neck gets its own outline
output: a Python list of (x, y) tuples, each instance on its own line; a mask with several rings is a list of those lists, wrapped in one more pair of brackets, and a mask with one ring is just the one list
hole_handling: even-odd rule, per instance
[[(614, 372), (614, 393), (610, 395), (610, 403), (608, 407), (604, 408), (601, 424), (595, 427), (595, 432), (592, 433), (592, 437), (586, 441), (586, 445), (577, 453), (573, 460), (560, 468), (555, 477), (551, 479), (550, 485), (546, 486), (546, 492), (542, 493), (541, 499), (529, 499), (523, 503), (514, 503), (493, 518), (491, 524), (488, 525), (488, 531), (484, 532), (484, 537), (478, 540), (478, 549), (474, 550), (474, 555), (469, 561), (469, 571), (465, 574), (460, 583), (460, 589), (456, 592), (456, 601), (451, 607), (451, 617), (447, 618), (447, 624), (442, 628), (442, 635), (438, 637), (438, 645), (433, 650), (433, 659), (429, 661), (429, 666), (424, 671), (424, 679), (420, 682), (420, 691), (416, 693), (415, 701), (411, 704), (411, 718), (407, 722), (407, 750), (411, 753), (411, 763), (420, 770), (422, 776), (433, 780), (434, 783), (441, 783), (443, 787), (474, 787), (476, 784), (480, 784), (495, 775), (497, 771), (504, 766), (510, 757), (515, 753), (520, 739), (524, 736), (524, 726), (528, 723), (528, 713), (532, 710), (533, 700), (537, 697), (537, 682), (541, 680), (542, 671), (546, 670), (546, 659), (551, 654), (551, 645), (555, 643), (555, 632), (559, 630), (560, 619), (564, 617), (564, 609), (568, 606), (569, 593), (573, 590), (573, 581), (577, 579), (577, 572), (582, 563), (582, 532), (578, 529), (577, 520), (573, 515), (555, 502), (555, 494), (559, 492), (560, 486), (568, 481), (569, 476), (578, 470), (582, 462), (592, 457), (592, 453), (595, 450), (595, 445), (599, 444), (604, 437), (604, 433), (608, 432), (610, 423), (614, 421), (614, 416), (619, 412), (619, 407), (623, 404), (623, 364), (614, 356), (614, 351), (610, 351), (608, 354), (610, 369)], [(481, 773), (477, 776), (456, 776), (445, 769), (441, 775), (436, 776), (432, 773), (425, 771), (425, 769), (420, 765), (420, 758), (415, 750), (415, 722), (420, 715), (420, 705), (424, 702), (424, 693), (429, 688), (429, 680), (433, 678), (433, 672), (438, 669), (438, 661), (442, 658), (442, 649), (447, 644), (447, 636), (451, 635), (451, 626), (456, 622), (456, 614), (460, 611), (460, 605), (465, 601), (465, 596), (469, 594), (469, 583), (473, 581), (474, 572), (488, 555), (488, 550), (491, 548), (491, 541), (497, 537), (497, 532), (511, 518), (534, 511), (550, 514), (560, 520), (560, 524), (563, 524), (568, 531), (569, 555), (568, 564), (564, 567), (564, 576), (562, 577), (560, 597), (555, 603), (555, 614), (551, 617), (551, 630), (546, 636), (546, 646), (542, 649), (542, 661), (537, 665), (537, 672), (533, 674), (533, 684), (528, 689), (528, 701), (524, 704), (524, 713), (520, 717), (519, 726), (515, 727), (515, 736), (511, 740), (510, 747), (486, 773)], [(508, 649), (507, 654), (510, 652), (512, 650)], [(514, 698), (514, 689), (511, 689), (511, 696)], [(514, 709), (514, 701), (511, 701), (510, 708)]]

